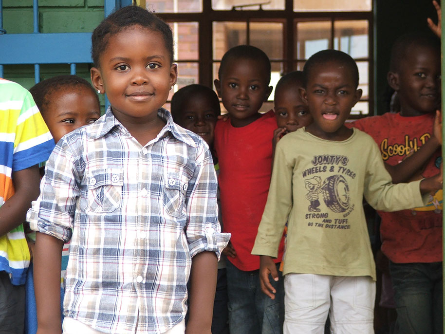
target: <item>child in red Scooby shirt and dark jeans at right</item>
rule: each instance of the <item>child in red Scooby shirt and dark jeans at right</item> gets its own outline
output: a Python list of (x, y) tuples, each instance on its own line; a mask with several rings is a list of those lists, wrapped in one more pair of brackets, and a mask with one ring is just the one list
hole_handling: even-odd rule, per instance
[[(440, 59), (436, 37), (399, 37), (391, 52), (388, 82), (399, 97), (400, 113), (352, 123), (377, 143), (394, 183), (439, 172), (441, 133), (433, 124), (439, 117)], [(395, 290), (397, 334), (443, 333), (441, 202), (439, 191), (426, 206), (379, 212), (382, 252), (389, 258)]]

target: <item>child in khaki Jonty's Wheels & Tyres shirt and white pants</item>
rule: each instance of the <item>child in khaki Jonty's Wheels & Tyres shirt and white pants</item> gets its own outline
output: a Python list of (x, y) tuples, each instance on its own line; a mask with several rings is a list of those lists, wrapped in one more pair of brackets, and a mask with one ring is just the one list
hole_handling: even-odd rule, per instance
[(345, 127), (362, 93), (350, 56), (318, 52), (303, 72), (302, 98), (314, 122), (277, 145), (252, 254), (261, 255), (260, 271), (273, 268), (288, 221), (284, 333), (323, 333), (329, 312), (331, 333), (371, 334), (375, 266), (362, 197), (383, 210), (419, 206), (421, 192), (442, 187), (441, 175), (392, 185), (372, 138)]

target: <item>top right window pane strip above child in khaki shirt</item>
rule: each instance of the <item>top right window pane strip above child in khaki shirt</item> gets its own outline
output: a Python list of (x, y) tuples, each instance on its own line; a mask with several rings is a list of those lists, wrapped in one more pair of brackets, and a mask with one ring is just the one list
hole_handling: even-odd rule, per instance
[(353, 12), (371, 10), (371, 0), (294, 0), (294, 12)]

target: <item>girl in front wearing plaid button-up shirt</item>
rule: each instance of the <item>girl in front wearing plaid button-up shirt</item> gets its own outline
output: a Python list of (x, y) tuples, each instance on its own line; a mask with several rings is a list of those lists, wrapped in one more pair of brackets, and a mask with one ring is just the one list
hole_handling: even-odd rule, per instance
[[(161, 108), (177, 78), (168, 25), (124, 7), (92, 36), (111, 107), (56, 145), (28, 212), (39, 331), (61, 333), (60, 253), (71, 239), (64, 333), (208, 333), (220, 234), (210, 151)], [(217, 256), (215, 256), (215, 253)]]

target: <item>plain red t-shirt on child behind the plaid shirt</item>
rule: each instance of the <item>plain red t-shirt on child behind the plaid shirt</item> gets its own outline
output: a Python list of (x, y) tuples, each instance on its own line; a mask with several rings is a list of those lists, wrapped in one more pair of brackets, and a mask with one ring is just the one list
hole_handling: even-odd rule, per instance
[[(275, 129), (274, 111), (245, 127), (235, 128), (230, 121), (220, 120), (215, 128), (223, 228), (232, 233), (230, 242), (237, 252), (235, 259), (227, 260), (243, 271), (260, 268), (260, 257), (250, 252), (269, 192)], [(282, 251), (283, 242), (275, 262), (281, 261)]]

